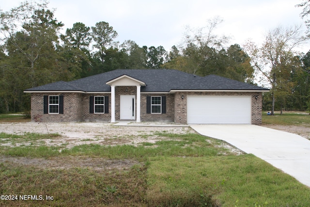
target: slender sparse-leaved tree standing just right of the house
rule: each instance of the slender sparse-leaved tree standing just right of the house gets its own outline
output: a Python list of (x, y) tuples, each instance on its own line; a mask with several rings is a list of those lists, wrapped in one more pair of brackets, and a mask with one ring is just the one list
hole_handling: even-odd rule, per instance
[[(307, 38), (303, 36), (301, 26), (278, 27), (265, 35), (261, 47), (248, 42), (246, 48), (251, 57), (251, 64), (258, 74), (271, 86), (272, 111), (274, 115), (276, 97), (283, 96), (288, 91), (288, 81), (291, 77), (294, 63), (294, 48), (304, 44)], [(282, 95), (281, 95), (282, 94)]]

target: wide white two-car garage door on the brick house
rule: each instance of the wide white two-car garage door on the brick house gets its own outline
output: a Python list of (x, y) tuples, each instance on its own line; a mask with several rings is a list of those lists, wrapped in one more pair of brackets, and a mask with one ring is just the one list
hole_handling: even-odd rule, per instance
[(187, 96), (188, 124), (251, 124), (251, 96)]

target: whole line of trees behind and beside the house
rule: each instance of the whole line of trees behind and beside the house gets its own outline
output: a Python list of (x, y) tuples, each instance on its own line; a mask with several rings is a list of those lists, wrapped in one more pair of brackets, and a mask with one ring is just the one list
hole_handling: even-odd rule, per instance
[(62, 34), (64, 25), (47, 1), (22, 2), (0, 12), (0, 112), (29, 111), (30, 96), (23, 93), (27, 88), (115, 69), (176, 69), (252, 84), (264, 77), (271, 88), (263, 96), (264, 110), (310, 108), (310, 52), (293, 50), (307, 40), (300, 28), (271, 31), (262, 46), (225, 47), (229, 37), (214, 32), (221, 21), (186, 28), (182, 43), (167, 51), (140, 47), (133, 40), (117, 42), (118, 33), (105, 21), (91, 27), (76, 22)]

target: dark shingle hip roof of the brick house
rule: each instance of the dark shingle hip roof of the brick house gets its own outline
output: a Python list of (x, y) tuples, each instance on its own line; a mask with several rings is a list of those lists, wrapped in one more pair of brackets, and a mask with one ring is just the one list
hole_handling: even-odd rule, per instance
[(107, 81), (122, 75), (145, 82), (141, 92), (170, 92), (171, 90), (268, 90), (259, 86), (216, 75), (195, 76), (178, 70), (118, 69), (70, 82), (58, 81), (25, 91), (84, 91), (110, 92)]

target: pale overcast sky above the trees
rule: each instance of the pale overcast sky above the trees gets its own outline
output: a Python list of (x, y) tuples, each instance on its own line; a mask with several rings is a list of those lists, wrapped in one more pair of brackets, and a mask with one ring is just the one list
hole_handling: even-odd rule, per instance
[[(76, 22), (86, 26), (106, 21), (118, 32), (120, 43), (133, 40), (140, 47), (163, 46), (169, 50), (179, 45), (186, 26), (201, 28), (208, 19), (219, 16), (224, 20), (216, 32), (231, 36), (230, 44), (243, 45), (247, 39), (256, 43), (279, 25), (303, 24), (303, 0), (50, 0), (55, 17), (72, 28)], [(22, 2), (1, 2), (8, 11)], [(301, 48), (308, 51), (309, 46)]]

